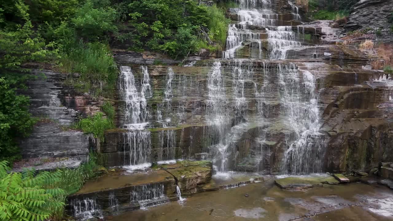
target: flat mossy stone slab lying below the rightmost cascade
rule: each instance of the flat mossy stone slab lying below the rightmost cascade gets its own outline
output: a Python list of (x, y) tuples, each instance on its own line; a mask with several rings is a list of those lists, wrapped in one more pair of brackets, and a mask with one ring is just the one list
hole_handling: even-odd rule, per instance
[(339, 181), (331, 176), (325, 177), (286, 177), (274, 180), (275, 184), (283, 190), (302, 190), (322, 187), (323, 184), (338, 184)]

